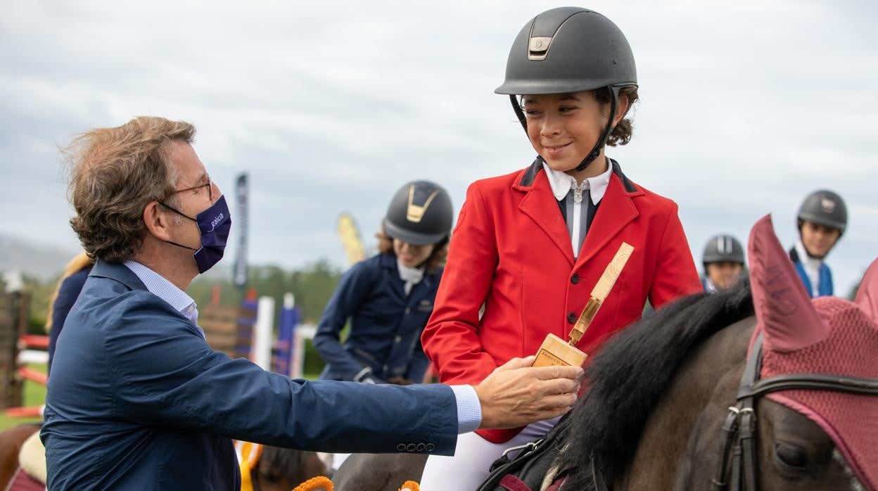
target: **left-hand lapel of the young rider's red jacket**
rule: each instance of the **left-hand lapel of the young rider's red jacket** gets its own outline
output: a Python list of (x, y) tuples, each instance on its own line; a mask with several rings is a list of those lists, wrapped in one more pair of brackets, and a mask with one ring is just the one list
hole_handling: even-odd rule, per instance
[(564, 217), (561, 216), (558, 208), (558, 200), (552, 194), (549, 179), (542, 170), (543, 163), (536, 159), (529, 169), (522, 173), (519, 182), (513, 186), (515, 190), (525, 191), (518, 208), (528, 215), (530, 220), (534, 220), (536, 226), (540, 227), (545, 235), (549, 235), (572, 267), (573, 249), (570, 233), (567, 232)]

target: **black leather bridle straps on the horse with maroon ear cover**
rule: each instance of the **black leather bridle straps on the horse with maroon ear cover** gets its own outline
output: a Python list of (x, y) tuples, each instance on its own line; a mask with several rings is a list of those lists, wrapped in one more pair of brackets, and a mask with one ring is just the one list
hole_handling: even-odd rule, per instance
[[(781, 390), (824, 390), (848, 394), (878, 395), (878, 379), (858, 379), (829, 373), (792, 373), (759, 379), (762, 367), (762, 333), (756, 336), (741, 384), (738, 403), (729, 408), (723, 422), (722, 453), (712, 481), (716, 491), (757, 491), (756, 398)], [(730, 474), (729, 475), (729, 471)]]

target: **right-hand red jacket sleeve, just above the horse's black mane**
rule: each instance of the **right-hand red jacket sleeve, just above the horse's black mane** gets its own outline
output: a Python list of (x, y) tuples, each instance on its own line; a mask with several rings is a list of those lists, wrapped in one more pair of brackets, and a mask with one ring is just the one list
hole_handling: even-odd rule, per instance
[(692, 251), (673, 203), (659, 242), (658, 262), (650, 288), (650, 304), (659, 308), (669, 301), (703, 292)]

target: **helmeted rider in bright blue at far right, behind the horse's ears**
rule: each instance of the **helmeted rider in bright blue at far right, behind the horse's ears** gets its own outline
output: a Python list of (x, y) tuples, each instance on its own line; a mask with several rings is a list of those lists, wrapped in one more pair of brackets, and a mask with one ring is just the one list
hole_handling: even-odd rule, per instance
[(799, 240), (789, 249), (789, 258), (811, 296), (833, 294), (832, 272), (824, 258), (847, 227), (845, 201), (833, 191), (814, 191), (799, 207)]

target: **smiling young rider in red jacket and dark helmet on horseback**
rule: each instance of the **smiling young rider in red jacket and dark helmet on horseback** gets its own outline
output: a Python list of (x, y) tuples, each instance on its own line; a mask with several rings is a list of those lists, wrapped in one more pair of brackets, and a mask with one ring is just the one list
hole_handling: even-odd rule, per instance
[[(516, 37), (496, 92), (509, 96), (538, 156), (466, 193), (421, 336), (446, 383), (479, 383), (535, 354), (549, 333), (567, 339), (622, 242), (634, 252), (580, 350), (593, 355), (647, 300), (658, 308), (702, 291), (677, 205), (604, 155), (605, 144), (630, 140), (625, 115), (637, 101), (634, 57), (615, 24), (586, 9), (543, 12)], [(505, 449), (553, 424), (463, 435), (454, 457), (428, 459), (422, 486), (478, 487)]]

